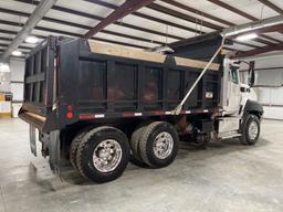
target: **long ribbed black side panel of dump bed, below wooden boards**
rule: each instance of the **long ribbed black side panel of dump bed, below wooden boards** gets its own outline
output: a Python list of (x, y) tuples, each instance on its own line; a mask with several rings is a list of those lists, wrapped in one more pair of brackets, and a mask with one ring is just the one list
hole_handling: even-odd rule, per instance
[[(171, 110), (202, 71), (178, 66), (170, 56), (165, 63), (155, 63), (92, 53), (83, 40), (64, 45), (60, 66), (61, 112), (66, 115), (71, 105), (74, 119), (87, 114)], [(185, 109), (217, 108), (219, 86), (219, 72), (208, 71)]]

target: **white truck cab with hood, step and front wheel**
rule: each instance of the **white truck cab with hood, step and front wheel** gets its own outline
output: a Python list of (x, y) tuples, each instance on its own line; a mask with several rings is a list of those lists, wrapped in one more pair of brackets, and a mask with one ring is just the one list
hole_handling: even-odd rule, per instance
[(239, 70), (239, 61), (224, 59), (220, 100), (223, 113), (219, 118), (218, 138), (239, 137), (243, 144), (253, 145), (260, 135), (263, 109), (252, 87), (240, 82)]

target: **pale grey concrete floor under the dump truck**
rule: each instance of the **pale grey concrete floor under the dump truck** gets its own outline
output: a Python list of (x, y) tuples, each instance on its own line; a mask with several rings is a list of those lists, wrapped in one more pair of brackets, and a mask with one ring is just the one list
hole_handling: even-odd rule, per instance
[(28, 125), (0, 120), (0, 212), (283, 211), (283, 121), (264, 120), (255, 147), (237, 139), (180, 146), (168, 168), (129, 165), (105, 184), (69, 171), (61, 181), (30, 153)]

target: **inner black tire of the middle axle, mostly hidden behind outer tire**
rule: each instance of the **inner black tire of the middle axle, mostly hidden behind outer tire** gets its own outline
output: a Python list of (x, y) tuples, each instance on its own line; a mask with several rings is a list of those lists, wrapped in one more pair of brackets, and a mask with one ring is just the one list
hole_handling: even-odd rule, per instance
[(140, 138), (144, 134), (146, 129), (146, 126), (140, 126), (138, 127), (133, 134), (132, 134), (132, 137), (130, 137), (130, 147), (132, 147), (132, 155), (130, 155), (130, 162), (133, 162), (134, 165), (137, 165), (137, 166), (144, 166), (144, 161), (143, 161), (143, 158), (140, 156), (140, 151), (139, 151), (139, 141), (140, 141)]

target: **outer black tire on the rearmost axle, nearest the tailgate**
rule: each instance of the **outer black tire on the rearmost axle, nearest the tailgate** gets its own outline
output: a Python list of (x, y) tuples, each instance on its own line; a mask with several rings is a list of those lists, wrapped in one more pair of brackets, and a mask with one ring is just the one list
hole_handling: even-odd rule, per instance
[[(93, 153), (96, 147), (107, 139), (116, 141), (120, 147), (120, 159), (111, 171), (104, 172), (95, 168)], [(97, 127), (86, 132), (76, 151), (76, 165), (80, 173), (97, 183), (108, 182), (122, 176), (129, 159), (129, 145), (123, 131), (115, 127)]]

